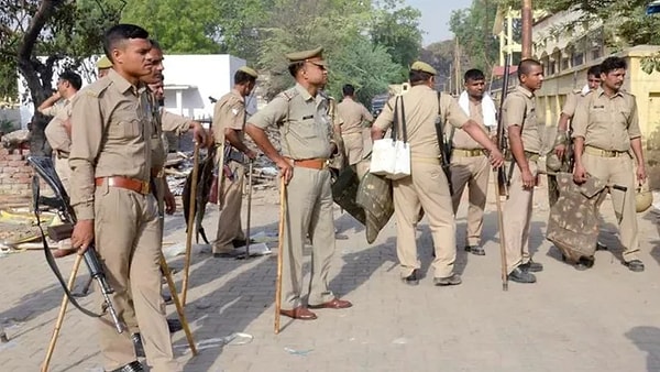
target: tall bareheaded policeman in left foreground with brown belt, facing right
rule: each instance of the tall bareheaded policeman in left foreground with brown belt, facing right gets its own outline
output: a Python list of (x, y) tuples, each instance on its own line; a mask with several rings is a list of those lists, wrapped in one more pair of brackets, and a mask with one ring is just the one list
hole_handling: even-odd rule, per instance
[[(114, 67), (74, 99), (69, 165), (78, 222), (72, 243), (85, 251), (95, 241), (120, 318), (131, 293), (153, 370), (182, 371), (161, 297), (162, 226), (150, 189), (154, 121), (140, 80), (153, 68), (147, 37), (136, 25), (110, 28), (103, 50)], [(107, 315), (98, 326), (106, 370), (142, 371), (130, 337), (118, 333)]]

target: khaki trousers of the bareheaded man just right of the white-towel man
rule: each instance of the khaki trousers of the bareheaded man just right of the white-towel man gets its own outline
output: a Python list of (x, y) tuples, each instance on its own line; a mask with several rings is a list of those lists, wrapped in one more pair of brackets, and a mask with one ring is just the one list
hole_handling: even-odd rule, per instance
[[(529, 172), (536, 175), (538, 164), (531, 160), (528, 160), (528, 162)], [(531, 259), (529, 254), (529, 228), (534, 200), (534, 187), (524, 188), (520, 168), (515, 161), (512, 162), (510, 166), (514, 167), (514, 173), (503, 216), (507, 274), (519, 265), (528, 263)]]

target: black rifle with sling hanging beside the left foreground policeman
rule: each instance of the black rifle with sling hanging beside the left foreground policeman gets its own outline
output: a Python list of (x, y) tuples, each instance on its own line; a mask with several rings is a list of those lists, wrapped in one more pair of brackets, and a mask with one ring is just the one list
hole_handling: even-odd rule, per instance
[[(70, 227), (76, 225), (77, 219), (76, 219), (76, 214), (74, 212), (74, 208), (69, 204), (69, 197), (64, 189), (64, 185), (62, 184), (62, 180), (59, 180), (59, 177), (55, 173), (55, 167), (53, 166), (53, 160), (51, 157), (46, 157), (46, 156), (30, 156), (30, 157), (28, 157), (28, 162), (30, 162), (30, 164), (32, 165), (32, 167), (34, 168), (36, 174), (38, 174), (38, 176), (41, 176), (41, 178), (48, 186), (51, 186), (51, 188), (55, 193), (55, 199), (58, 201), (57, 215), (59, 216), (62, 221), (65, 222), (65, 225), (69, 226), (68, 228), (67, 227), (61, 228), (61, 231), (58, 231), (61, 233), (57, 236), (57, 238), (68, 238), (68, 237), (66, 237), (66, 233), (62, 233), (62, 232), (66, 232), (68, 229), (70, 229), (70, 231), (73, 231), (73, 228), (70, 228)], [(38, 209), (40, 180), (38, 180), (38, 176), (35, 175), (32, 178), (32, 193), (33, 193), (33, 197), (34, 197), (34, 215), (36, 216), (37, 226), (40, 227), (40, 230), (42, 233), (42, 240), (44, 242), (44, 252), (46, 255), (46, 261), (48, 262), (48, 265), (55, 273), (57, 281), (64, 288), (64, 293), (68, 297), (69, 302), (75, 307), (77, 307), (80, 311), (82, 311), (82, 314), (90, 316), (90, 317), (99, 318), (102, 316), (102, 314), (95, 314), (95, 313), (84, 308), (82, 306), (80, 306), (78, 304), (78, 302), (76, 300), (74, 295), (72, 295), (72, 293), (69, 292), (69, 289), (67, 287), (67, 284), (65, 283), (64, 278), (62, 277), (62, 273), (59, 272), (57, 264), (55, 263), (55, 259), (53, 258), (53, 254), (51, 253), (51, 249), (48, 248), (48, 244), (46, 242), (45, 233), (44, 233), (43, 229), (41, 228), (41, 221), (40, 221), (40, 217), (38, 217), (40, 216), (40, 209)], [(103, 299), (106, 303), (105, 308), (110, 313), (110, 316), (112, 317), (112, 322), (114, 324), (114, 328), (117, 329), (117, 331), (119, 333), (123, 332), (123, 325), (120, 322), (119, 316), (117, 315), (117, 311), (114, 310), (114, 307), (112, 306), (112, 302), (110, 300), (110, 295), (112, 293), (114, 293), (114, 289), (112, 289), (112, 287), (110, 287), (110, 284), (108, 284), (108, 280), (106, 278), (106, 273), (103, 272), (103, 266), (102, 266), (101, 262), (99, 261), (99, 258), (96, 253), (94, 242), (91, 244), (89, 244), (89, 247), (87, 248), (87, 251), (85, 251), (85, 253), (82, 254), (82, 258), (85, 259), (85, 263), (87, 264), (87, 269), (89, 270), (90, 277), (96, 280), (97, 283), (99, 284), (99, 288), (101, 289), (101, 294), (103, 295)]]

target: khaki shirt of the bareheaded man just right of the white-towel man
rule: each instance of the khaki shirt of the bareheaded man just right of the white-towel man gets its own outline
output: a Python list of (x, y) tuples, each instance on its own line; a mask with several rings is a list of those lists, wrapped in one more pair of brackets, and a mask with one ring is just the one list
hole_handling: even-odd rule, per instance
[(541, 130), (536, 118), (536, 100), (534, 92), (517, 86), (504, 100), (502, 108), (506, 128), (521, 127), (522, 147), (525, 151), (539, 154), (542, 147)]

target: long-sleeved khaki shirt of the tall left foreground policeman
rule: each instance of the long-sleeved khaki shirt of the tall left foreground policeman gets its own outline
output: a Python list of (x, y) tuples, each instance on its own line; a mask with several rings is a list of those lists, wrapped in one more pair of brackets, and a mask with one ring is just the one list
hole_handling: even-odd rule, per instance
[(76, 95), (72, 110), (72, 206), (78, 219), (94, 219), (95, 178), (151, 177), (152, 135), (157, 123), (150, 92), (113, 69)]

